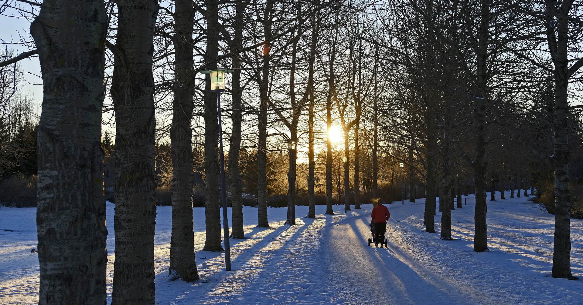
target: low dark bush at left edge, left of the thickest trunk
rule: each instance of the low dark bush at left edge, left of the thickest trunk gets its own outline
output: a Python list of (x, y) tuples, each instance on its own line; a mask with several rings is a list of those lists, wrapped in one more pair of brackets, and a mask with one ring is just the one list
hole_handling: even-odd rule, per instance
[(0, 183), (0, 204), (8, 207), (36, 207), (37, 176), (9, 176)]

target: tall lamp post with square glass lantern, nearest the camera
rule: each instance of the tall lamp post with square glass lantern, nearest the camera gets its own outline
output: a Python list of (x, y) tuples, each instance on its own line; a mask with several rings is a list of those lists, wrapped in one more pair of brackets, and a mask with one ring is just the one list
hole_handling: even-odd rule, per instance
[(220, 110), (220, 93), (225, 91), (224, 75), (233, 73), (230, 69), (204, 70), (202, 74), (210, 75), (210, 91), (217, 93), (217, 114), (219, 116), (219, 147), (220, 147), (220, 199), (223, 204), (223, 235), (224, 235), (224, 269), (231, 271), (231, 249), (229, 243), (229, 218), (227, 218), (227, 183), (224, 175), (223, 127)]

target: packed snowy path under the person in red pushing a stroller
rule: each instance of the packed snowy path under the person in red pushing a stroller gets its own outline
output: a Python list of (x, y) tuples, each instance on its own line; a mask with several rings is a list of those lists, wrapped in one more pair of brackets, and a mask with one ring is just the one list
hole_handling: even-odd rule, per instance
[[(329, 256), (329, 269), (335, 278), (346, 284), (345, 293), (360, 304), (494, 304), (489, 297), (466, 283), (431, 271), (401, 250), (394, 225), (401, 221), (399, 205), (392, 205), (395, 214), (387, 225), (388, 248), (371, 244), (366, 214), (346, 224), (332, 226), (324, 247), (338, 249)], [(408, 204), (406, 212), (423, 211), (424, 204)]]

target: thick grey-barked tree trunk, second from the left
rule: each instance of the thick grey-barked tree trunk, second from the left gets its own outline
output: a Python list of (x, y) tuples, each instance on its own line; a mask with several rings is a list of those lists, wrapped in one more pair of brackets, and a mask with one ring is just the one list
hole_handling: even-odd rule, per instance
[[(115, 264), (112, 304), (154, 304), (153, 36), (158, 3), (122, 0), (111, 97), (115, 111)], [(136, 259), (139, 257), (139, 260)]]

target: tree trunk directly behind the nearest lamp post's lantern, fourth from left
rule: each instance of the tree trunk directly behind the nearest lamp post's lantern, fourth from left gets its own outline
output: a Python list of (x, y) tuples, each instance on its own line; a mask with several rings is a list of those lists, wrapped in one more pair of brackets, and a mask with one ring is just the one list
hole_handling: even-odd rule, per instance
[[(217, 69), (219, 55), (219, 5), (207, 0), (207, 34), (205, 69)], [(206, 239), (203, 251), (223, 251), (220, 228), (220, 166), (219, 166), (219, 119), (217, 118), (217, 93), (210, 91), (210, 77), (205, 78), (205, 226)]]

